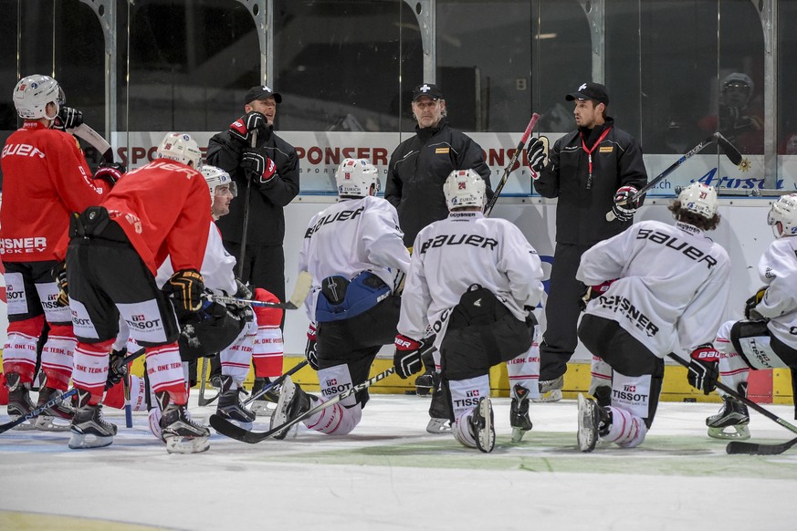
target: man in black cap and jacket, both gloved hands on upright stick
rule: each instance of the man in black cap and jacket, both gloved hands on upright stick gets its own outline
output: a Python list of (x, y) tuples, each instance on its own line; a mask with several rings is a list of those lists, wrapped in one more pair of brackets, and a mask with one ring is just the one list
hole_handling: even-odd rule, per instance
[[(299, 194), (299, 157), (274, 133), (277, 105), (282, 103), (278, 92), (257, 85), (246, 91), (243, 103), (246, 114), (229, 130), (215, 134), (207, 146), (207, 163), (228, 172), (244, 191), (216, 224), (227, 252), (242, 265), (236, 271), (241, 280), (249, 282), (252, 291), (262, 287), (285, 301), (283, 208)], [(256, 379), (256, 389), (264, 383)], [(258, 409), (262, 408), (256, 402), (252, 410)]]

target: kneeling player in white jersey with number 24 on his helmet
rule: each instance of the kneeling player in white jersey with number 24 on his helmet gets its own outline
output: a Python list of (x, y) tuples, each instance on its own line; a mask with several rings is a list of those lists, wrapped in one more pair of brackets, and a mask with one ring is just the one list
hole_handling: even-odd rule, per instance
[[(484, 216), (485, 182), (476, 172), (451, 172), (443, 191), (448, 217), (426, 226), (414, 241), (394, 365), (402, 378), (421, 370), (420, 351), (431, 329), (454, 436), (488, 453), (495, 444), (489, 369), (530, 358), (536, 325), (530, 310), (542, 296), (542, 266), (518, 227)], [(528, 365), (510, 363), (510, 379), (528, 374)], [(522, 384), (528, 390), (537, 381)], [(519, 399), (511, 424), (522, 437), (531, 428), (528, 393)]]

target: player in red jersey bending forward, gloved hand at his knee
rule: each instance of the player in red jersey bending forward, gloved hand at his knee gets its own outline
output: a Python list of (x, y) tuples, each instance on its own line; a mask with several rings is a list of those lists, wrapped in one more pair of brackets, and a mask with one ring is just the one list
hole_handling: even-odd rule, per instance
[[(209, 431), (187, 414), (175, 311), (189, 315), (203, 304), (199, 269), (212, 222), (211, 202), (198, 171), (202, 153), (189, 135), (167, 134), (157, 153), (155, 161), (128, 172), (102, 206), (72, 218), (67, 278), (78, 338), (72, 376), (78, 409), (70, 448), (113, 442), (116, 426), (102, 419), (100, 402), (120, 317), (131, 338), (146, 349), (167, 451), (194, 453), (209, 447)], [(175, 273), (162, 291), (155, 274), (167, 255)]]

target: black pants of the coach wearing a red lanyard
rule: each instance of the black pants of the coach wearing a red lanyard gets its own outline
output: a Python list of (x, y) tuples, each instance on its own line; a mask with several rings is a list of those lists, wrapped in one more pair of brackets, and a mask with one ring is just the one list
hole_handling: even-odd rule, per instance
[(591, 246), (556, 244), (545, 303), (545, 332), (540, 343), (540, 381), (555, 380), (564, 374), (578, 346), (579, 298), (586, 286), (576, 280), (575, 274), (582, 254)]

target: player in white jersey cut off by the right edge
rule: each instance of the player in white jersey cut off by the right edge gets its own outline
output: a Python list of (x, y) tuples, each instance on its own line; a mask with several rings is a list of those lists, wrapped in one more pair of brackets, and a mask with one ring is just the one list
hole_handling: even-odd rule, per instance
[[(719, 376), (742, 396), (747, 396), (750, 369), (797, 369), (797, 193), (772, 203), (767, 223), (776, 239), (759, 260), (764, 286), (747, 300), (745, 318), (723, 323), (715, 340)], [(719, 412), (706, 419), (708, 435), (750, 438), (747, 406), (729, 395), (722, 398)]]

